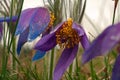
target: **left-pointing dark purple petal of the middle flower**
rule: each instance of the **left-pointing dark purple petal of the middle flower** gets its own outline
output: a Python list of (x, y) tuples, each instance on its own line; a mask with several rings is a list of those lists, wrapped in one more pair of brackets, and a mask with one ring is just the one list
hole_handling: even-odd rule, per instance
[(40, 51), (48, 51), (56, 46), (56, 36), (55, 33), (48, 34), (42, 37), (38, 43), (35, 45), (34, 49)]

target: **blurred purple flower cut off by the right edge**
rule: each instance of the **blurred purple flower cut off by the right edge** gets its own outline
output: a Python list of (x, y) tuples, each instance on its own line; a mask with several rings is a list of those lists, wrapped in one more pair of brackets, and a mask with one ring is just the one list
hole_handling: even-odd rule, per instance
[[(109, 26), (105, 29), (84, 52), (82, 63), (85, 64), (97, 56), (103, 56), (114, 48), (120, 45), (120, 23)], [(118, 47), (120, 53), (120, 47)], [(120, 55), (116, 58), (112, 71), (112, 80), (120, 80)]]

